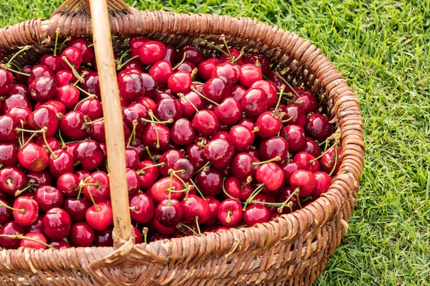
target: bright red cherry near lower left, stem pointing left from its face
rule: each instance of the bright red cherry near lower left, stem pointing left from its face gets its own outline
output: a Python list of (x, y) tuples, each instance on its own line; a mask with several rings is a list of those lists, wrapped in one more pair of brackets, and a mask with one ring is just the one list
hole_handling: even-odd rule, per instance
[(36, 200), (25, 195), (14, 200), (13, 208), (12, 215), (20, 226), (30, 226), (38, 217), (39, 206)]

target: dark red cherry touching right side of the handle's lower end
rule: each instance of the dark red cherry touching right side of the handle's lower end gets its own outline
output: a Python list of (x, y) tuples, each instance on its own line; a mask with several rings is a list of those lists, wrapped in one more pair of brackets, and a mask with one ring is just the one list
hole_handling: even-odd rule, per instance
[(137, 193), (130, 198), (131, 219), (139, 224), (148, 224), (155, 214), (155, 205), (146, 193)]

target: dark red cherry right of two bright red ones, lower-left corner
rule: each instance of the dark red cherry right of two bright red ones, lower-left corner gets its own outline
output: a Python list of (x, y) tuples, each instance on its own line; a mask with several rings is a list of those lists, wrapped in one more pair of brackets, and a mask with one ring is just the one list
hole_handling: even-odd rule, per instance
[(71, 217), (63, 208), (51, 208), (43, 217), (43, 233), (51, 239), (64, 239), (69, 235)]

